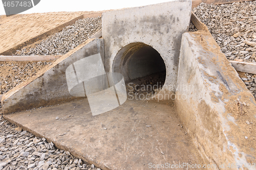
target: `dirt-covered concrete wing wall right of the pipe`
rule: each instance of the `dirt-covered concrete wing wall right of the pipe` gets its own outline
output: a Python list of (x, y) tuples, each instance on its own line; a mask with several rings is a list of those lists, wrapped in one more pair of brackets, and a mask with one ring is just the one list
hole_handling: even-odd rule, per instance
[(205, 163), (255, 163), (255, 100), (208, 32), (183, 34), (177, 86), (177, 112)]

